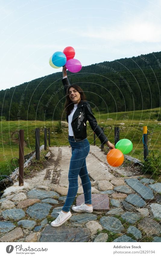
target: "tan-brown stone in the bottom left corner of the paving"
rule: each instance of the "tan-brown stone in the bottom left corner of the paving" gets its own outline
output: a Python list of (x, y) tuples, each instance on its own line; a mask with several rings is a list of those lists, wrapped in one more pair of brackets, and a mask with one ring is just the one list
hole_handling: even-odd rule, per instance
[(0, 238), (0, 242), (15, 242), (24, 237), (24, 233), (21, 228), (13, 229), (9, 233), (6, 233)]

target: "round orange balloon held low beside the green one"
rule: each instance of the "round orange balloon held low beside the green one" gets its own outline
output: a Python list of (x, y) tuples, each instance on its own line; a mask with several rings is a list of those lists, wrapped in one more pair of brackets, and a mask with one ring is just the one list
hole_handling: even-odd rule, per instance
[(107, 154), (107, 162), (113, 167), (120, 166), (124, 161), (123, 153), (118, 149), (112, 149)]

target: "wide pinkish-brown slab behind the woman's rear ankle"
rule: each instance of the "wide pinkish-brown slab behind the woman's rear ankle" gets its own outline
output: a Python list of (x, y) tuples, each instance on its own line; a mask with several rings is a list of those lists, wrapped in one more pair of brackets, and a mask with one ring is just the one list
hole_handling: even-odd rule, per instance
[[(106, 194), (91, 194), (92, 206), (95, 211), (108, 211), (109, 210), (109, 197)], [(84, 203), (84, 194), (77, 197), (76, 204)]]

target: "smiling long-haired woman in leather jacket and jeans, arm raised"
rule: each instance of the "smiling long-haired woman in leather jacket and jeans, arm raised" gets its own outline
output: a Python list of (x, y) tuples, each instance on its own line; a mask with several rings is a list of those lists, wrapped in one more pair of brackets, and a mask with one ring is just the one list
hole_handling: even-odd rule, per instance
[(91, 183), (86, 166), (86, 157), (90, 151), (90, 144), (87, 140), (86, 131), (87, 120), (97, 137), (99, 137), (101, 143), (106, 143), (110, 149), (115, 148), (98, 126), (97, 121), (93, 116), (90, 104), (86, 101), (86, 97), (82, 89), (78, 85), (69, 84), (65, 67), (63, 67), (62, 82), (66, 93), (65, 109), (69, 130), (68, 140), (71, 145), (72, 156), (68, 174), (69, 188), (67, 198), (62, 211), (59, 212), (58, 217), (51, 222), (51, 226), (53, 227), (61, 226), (71, 217), (70, 208), (78, 190), (78, 175), (81, 178), (85, 201), (79, 206), (72, 206), (72, 210), (77, 213), (82, 211), (87, 213), (93, 212), (91, 202)]

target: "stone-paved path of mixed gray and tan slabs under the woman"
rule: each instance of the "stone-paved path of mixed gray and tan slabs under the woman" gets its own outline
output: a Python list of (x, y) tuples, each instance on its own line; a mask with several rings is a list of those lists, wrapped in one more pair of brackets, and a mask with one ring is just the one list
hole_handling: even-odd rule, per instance
[[(24, 186), (5, 189), (0, 199), (0, 242), (161, 242), (161, 183), (113, 168), (99, 147), (90, 146), (87, 169), (93, 213), (74, 213), (50, 226), (65, 202), (71, 147), (51, 147), (47, 168)], [(81, 180), (76, 204), (84, 202)], [(111, 232), (114, 235), (111, 237)]]

